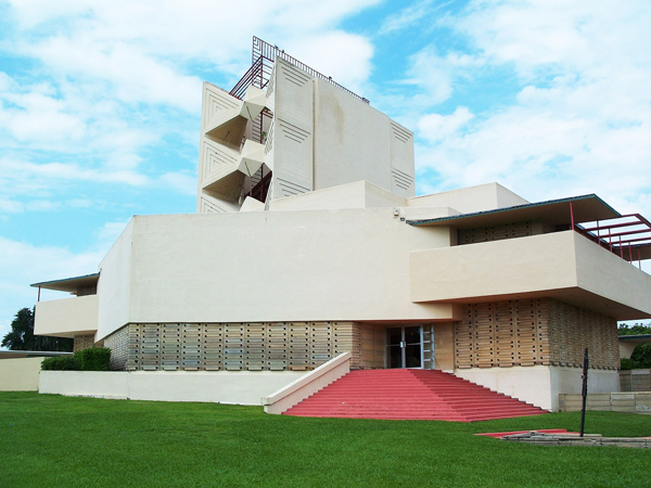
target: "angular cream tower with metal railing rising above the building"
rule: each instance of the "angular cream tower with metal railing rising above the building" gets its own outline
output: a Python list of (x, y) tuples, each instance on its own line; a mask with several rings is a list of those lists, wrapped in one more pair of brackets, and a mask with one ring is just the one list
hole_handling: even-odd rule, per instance
[(230, 92), (204, 84), (199, 213), (366, 180), (413, 196), (413, 134), (369, 101), (254, 37)]

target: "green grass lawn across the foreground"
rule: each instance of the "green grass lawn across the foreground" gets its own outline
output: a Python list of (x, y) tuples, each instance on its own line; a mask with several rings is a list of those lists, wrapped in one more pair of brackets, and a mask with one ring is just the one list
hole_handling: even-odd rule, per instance
[[(0, 487), (649, 487), (651, 450), (474, 433), (579, 428), (579, 413), (461, 424), (301, 419), (213, 403), (0, 393)], [(588, 412), (586, 432), (651, 436)]]

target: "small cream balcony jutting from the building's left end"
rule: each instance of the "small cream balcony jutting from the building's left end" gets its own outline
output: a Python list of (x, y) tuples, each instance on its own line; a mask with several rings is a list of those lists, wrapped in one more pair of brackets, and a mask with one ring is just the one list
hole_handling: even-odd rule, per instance
[(98, 295), (78, 296), (36, 304), (36, 335), (74, 337), (98, 330)]

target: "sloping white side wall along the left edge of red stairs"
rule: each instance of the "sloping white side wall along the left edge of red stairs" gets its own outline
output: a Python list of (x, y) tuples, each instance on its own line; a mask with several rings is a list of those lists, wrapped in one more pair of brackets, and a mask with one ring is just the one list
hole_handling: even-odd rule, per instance
[(349, 373), (352, 356), (350, 352), (339, 355), (267, 398), (263, 398), (265, 412), (280, 414)]

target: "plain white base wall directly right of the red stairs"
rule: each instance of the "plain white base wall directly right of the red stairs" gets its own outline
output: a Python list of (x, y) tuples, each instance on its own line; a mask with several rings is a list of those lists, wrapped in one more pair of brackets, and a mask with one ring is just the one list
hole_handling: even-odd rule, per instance
[[(580, 393), (580, 368), (513, 367), (456, 369), (455, 374), (486, 388), (509, 395), (545, 410), (559, 410), (559, 394)], [(620, 389), (616, 371), (590, 370), (588, 390), (610, 393)]]

